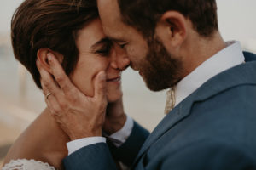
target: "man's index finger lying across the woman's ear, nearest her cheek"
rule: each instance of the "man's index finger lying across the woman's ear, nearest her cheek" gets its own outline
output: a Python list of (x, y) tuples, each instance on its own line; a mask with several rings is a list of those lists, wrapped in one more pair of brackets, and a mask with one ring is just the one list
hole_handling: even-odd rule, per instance
[(74, 89), (73, 83), (67, 77), (65, 71), (63, 70), (61, 64), (53, 54), (47, 54), (49, 66), (55, 77), (55, 81), (59, 84), (64, 94), (70, 94)]

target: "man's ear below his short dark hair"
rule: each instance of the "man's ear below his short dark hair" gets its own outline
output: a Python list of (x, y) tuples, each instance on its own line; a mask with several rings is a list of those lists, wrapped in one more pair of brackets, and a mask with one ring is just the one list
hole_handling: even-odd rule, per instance
[(167, 46), (177, 48), (181, 46), (189, 31), (189, 20), (177, 11), (164, 13), (156, 26), (156, 35)]

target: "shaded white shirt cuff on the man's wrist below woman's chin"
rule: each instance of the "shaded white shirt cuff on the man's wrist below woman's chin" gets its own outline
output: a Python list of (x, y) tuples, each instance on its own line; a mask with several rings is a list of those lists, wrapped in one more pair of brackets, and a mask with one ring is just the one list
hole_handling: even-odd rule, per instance
[[(132, 128), (134, 126), (134, 122), (131, 119), (130, 116), (126, 115), (126, 122), (123, 128), (121, 128), (119, 131), (117, 131), (116, 133), (111, 134), (108, 138), (112, 140), (113, 144), (116, 147), (119, 147), (120, 145), (124, 144), (125, 141), (129, 138), (129, 136), (131, 135), (131, 131)], [(115, 141), (117, 140), (117, 141)]]

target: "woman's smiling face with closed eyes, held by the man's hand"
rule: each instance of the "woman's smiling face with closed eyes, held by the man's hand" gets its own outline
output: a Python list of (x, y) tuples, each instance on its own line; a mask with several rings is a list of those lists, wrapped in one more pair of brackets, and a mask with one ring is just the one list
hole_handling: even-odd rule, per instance
[(78, 31), (76, 45), (79, 61), (70, 76), (73, 83), (87, 96), (94, 96), (94, 82), (100, 71), (107, 75), (108, 102), (121, 98), (121, 71), (115, 63), (115, 51), (102, 31), (102, 22), (93, 20)]

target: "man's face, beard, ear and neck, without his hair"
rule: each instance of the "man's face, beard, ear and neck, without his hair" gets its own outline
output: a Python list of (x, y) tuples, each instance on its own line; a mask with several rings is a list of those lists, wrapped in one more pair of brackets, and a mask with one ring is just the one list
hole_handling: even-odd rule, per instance
[[(201, 37), (191, 21), (176, 11), (163, 14), (154, 35), (144, 38), (122, 21), (117, 0), (98, 0), (97, 4), (103, 31), (123, 48), (123, 54), (131, 61), (131, 68), (140, 71), (148, 88), (154, 91), (175, 86), (203, 61), (224, 48), (218, 31), (213, 32), (212, 37)], [(125, 57), (118, 58), (118, 62)]]

